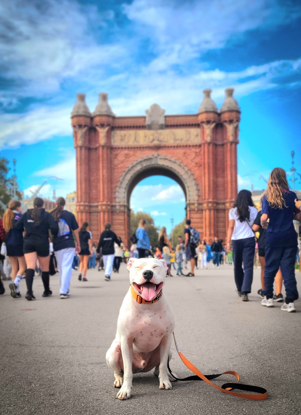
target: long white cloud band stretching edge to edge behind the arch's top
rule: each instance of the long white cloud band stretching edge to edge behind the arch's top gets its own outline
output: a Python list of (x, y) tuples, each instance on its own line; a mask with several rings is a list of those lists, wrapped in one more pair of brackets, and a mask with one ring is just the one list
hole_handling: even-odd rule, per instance
[[(240, 72), (200, 71), (195, 75), (180, 76), (175, 73), (149, 74), (150, 82), (145, 83), (145, 74), (129, 77), (119, 98), (110, 100), (117, 115), (141, 115), (152, 103), (157, 102), (167, 114), (197, 112), (202, 100), (201, 89), (213, 88), (212, 98), (221, 106), (229, 85), (235, 88), (235, 98), (277, 86), (277, 79), (299, 73), (301, 59), (295, 61), (274, 61), (260, 66), (251, 66)], [(218, 73), (218, 76), (216, 76)], [(243, 81), (249, 76), (258, 78)], [(163, 86), (164, 85), (164, 86)], [(187, 97), (189, 97), (187, 99)], [(97, 91), (87, 96), (87, 102), (97, 100)], [(73, 103), (65, 106), (42, 106), (27, 114), (0, 115), (0, 146), (16, 147), (21, 143), (32, 144), (53, 136), (71, 135), (70, 112)], [(94, 105), (90, 105), (94, 108)], [(192, 108), (192, 110), (191, 110)]]

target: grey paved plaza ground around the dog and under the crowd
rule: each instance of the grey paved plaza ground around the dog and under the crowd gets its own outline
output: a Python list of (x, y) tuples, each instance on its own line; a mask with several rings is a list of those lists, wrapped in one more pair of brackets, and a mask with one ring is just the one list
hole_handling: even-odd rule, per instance
[[(136, 374), (132, 397), (115, 399), (113, 373), (105, 354), (114, 339), (121, 302), (129, 288), (125, 264), (112, 281), (88, 271), (88, 282), (73, 272), (70, 298), (60, 300), (59, 276), (51, 277), (51, 298), (12, 299), (9, 281), (0, 297), (0, 413), (22, 415), (105, 414), (300, 414), (301, 301), (296, 313), (260, 305), (260, 270), (250, 301), (235, 292), (233, 267), (197, 270), (195, 277), (166, 278), (164, 291), (175, 315), (182, 353), (204, 374), (237, 371), (241, 382), (262, 386), (269, 397), (250, 401), (226, 395), (204, 382), (176, 382), (159, 390), (152, 372)], [(301, 291), (301, 273), (296, 273)], [(284, 294), (284, 290), (282, 291)], [(191, 373), (172, 347), (172, 370)], [(233, 381), (224, 376), (219, 385)]]

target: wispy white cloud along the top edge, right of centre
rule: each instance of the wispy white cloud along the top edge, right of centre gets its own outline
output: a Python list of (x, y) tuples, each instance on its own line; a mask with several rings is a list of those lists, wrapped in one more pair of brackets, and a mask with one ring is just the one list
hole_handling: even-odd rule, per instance
[(248, 30), (276, 26), (300, 16), (298, 6), (285, 7), (273, 0), (134, 0), (123, 8), (127, 17), (140, 25), (144, 36), (155, 39), (161, 53), (150, 66), (159, 70), (222, 48)]

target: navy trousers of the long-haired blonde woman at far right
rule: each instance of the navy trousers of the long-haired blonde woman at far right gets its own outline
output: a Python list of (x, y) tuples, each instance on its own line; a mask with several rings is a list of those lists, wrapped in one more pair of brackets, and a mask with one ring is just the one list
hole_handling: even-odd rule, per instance
[(286, 292), (286, 304), (298, 300), (295, 262), (298, 247), (273, 248), (265, 247), (265, 289), (262, 294), (273, 298), (273, 284), (277, 271), (281, 269)]

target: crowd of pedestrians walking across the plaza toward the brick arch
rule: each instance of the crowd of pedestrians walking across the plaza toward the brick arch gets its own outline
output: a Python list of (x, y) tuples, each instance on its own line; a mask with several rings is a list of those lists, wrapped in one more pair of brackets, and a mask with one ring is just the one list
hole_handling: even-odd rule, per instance
[[(282, 168), (272, 170), (259, 212), (250, 191), (238, 193), (229, 211), (226, 244), (218, 237), (213, 241), (209, 239), (207, 243), (187, 219), (184, 239), (179, 236), (175, 247), (164, 226), (160, 229), (157, 246), (151, 247), (147, 222), (141, 219), (131, 237), (129, 250), (121, 237), (112, 231), (110, 223), (104, 225), (96, 247), (92, 243), (88, 222), (79, 227), (73, 213), (65, 209), (65, 204), (64, 198), (58, 198), (55, 209), (47, 212), (44, 201), (35, 198), (33, 209), (22, 214), (21, 203), (12, 200), (3, 220), (0, 218), (0, 273), (5, 279), (4, 261), (8, 260), (13, 298), (21, 297), (19, 283), (25, 276), (25, 298), (35, 299), (33, 281), (36, 272), (40, 273), (44, 285), (43, 297), (52, 294), (49, 276), (59, 272), (60, 298), (65, 299), (69, 297), (72, 269), (78, 269), (78, 280), (85, 282), (88, 269), (97, 267), (104, 271), (105, 281), (110, 281), (112, 271), (118, 273), (122, 261), (127, 263), (129, 258), (155, 256), (165, 261), (167, 277), (172, 277), (172, 270), (177, 276), (193, 277), (195, 268), (207, 269), (211, 260), (215, 269), (219, 269), (221, 264), (233, 264), (236, 290), (243, 301), (249, 300), (253, 269), (261, 266), (261, 288), (257, 291), (262, 298), (261, 304), (273, 307), (274, 301), (284, 302), (282, 310), (295, 311), (294, 301), (299, 297), (295, 278), (299, 239), (293, 220), (301, 219), (301, 202), (296, 193), (289, 190), (286, 172)], [(259, 232), (258, 239), (256, 232)], [(188, 264), (190, 271), (184, 274)], [(0, 294), (4, 291), (0, 279)]]

